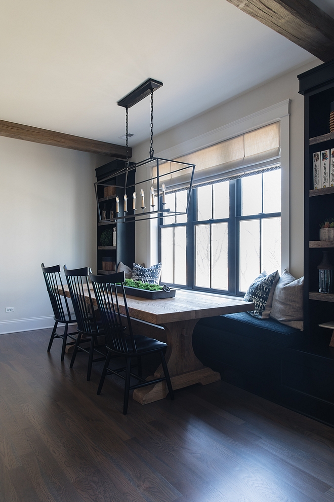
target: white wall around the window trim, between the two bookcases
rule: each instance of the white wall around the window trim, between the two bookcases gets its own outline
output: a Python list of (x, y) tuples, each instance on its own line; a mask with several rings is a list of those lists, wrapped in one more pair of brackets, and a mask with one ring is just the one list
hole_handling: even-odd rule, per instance
[[(296, 68), (293, 71), (242, 94), (215, 109), (209, 110), (154, 137), (154, 152), (158, 155), (168, 148), (181, 145), (192, 138), (259, 112), (269, 106), (291, 99), (290, 107), (290, 273), (303, 275), (303, 222), (304, 222), (304, 97), (298, 93), (297, 75), (321, 64), (321, 61)], [(224, 83), (222, 83), (222, 86)], [(143, 142), (133, 149), (136, 161), (148, 157), (149, 143)], [(184, 154), (189, 152), (184, 152)], [(141, 228), (142, 227), (142, 228)], [(144, 222), (136, 227), (136, 261), (153, 262), (149, 245), (149, 229)], [(152, 246), (151, 246), (152, 247)], [(152, 263), (151, 263), (152, 264)]]

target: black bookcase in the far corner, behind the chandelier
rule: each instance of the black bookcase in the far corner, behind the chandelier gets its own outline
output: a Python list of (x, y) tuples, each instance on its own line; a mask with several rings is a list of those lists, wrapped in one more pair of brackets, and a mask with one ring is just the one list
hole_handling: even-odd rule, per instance
[[(130, 165), (133, 165), (130, 163)], [(98, 200), (100, 211), (102, 211), (105, 206), (107, 211), (115, 211), (115, 199), (118, 195), (119, 197), (119, 212), (123, 212), (123, 196), (124, 196), (124, 175), (115, 175), (119, 169), (124, 168), (125, 162), (122, 160), (113, 160), (108, 164), (95, 169), (96, 178), (98, 182), (103, 181), (103, 183), (115, 185), (116, 193), (108, 197), (104, 196), (104, 187), (98, 185)], [(127, 185), (130, 186), (135, 183), (135, 171), (130, 171), (128, 174)], [(129, 192), (134, 190), (129, 189)], [(129, 194), (128, 194), (129, 197)], [(116, 229), (116, 245), (115, 246), (102, 246), (101, 244), (101, 234), (104, 230)], [(135, 261), (135, 222), (123, 221), (118, 222), (99, 222), (97, 223), (97, 272), (98, 273), (110, 273), (102, 269), (102, 262), (104, 258), (108, 258), (115, 263), (116, 267), (119, 262), (123, 262), (132, 268), (132, 264)]]

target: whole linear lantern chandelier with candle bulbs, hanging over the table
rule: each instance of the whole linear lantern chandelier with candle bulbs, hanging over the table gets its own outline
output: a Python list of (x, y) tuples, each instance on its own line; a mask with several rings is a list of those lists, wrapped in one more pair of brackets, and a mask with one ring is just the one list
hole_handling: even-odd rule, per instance
[[(114, 171), (111, 175), (109, 174), (94, 184), (100, 222), (133, 222), (134, 220), (151, 220), (188, 213), (195, 164), (154, 157), (153, 92), (161, 86), (162, 82), (148, 79), (117, 102), (118, 106), (123, 106), (126, 109), (126, 162), (123, 168)], [(131, 106), (149, 95), (151, 96), (149, 158), (134, 164), (130, 163), (128, 158), (128, 111)], [(135, 173), (136, 178), (129, 176), (130, 173)], [(100, 209), (101, 201), (98, 194), (99, 187), (110, 187), (110, 178), (116, 179), (116, 193), (110, 196), (115, 199), (115, 211), (111, 212), (110, 218), (105, 218), (105, 212)], [(134, 178), (135, 181), (133, 181)], [(178, 186), (178, 178), (182, 180), (182, 188), (188, 189), (185, 211), (177, 211), (176, 207), (174, 210), (166, 207), (166, 195), (175, 191)], [(117, 185), (117, 181), (123, 179), (124, 184)], [(130, 179), (131, 181), (129, 181)]]

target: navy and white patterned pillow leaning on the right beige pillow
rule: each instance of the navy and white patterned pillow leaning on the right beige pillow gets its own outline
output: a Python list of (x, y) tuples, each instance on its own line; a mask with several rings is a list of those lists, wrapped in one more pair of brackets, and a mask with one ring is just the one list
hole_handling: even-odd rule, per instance
[[(262, 272), (249, 286), (245, 296), (243, 297), (243, 301), (255, 303), (255, 309), (248, 312), (253, 315), (253, 317), (256, 317), (257, 319), (264, 318), (263, 314), (265, 313), (270, 292), (275, 284), (275, 281), (277, 282), (277, 276), (279, 277), (278, 270), (269, 275), (267, 275), (266, 272)], [(268, 312), (270, 312), (269, 307), (264, 315), (267, 316)]]

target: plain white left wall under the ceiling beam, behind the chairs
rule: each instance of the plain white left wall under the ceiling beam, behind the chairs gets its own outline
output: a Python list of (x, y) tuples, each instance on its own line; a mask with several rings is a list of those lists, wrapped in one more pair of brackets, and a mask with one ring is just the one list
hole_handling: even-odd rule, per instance
[(41, 262), (95, 268), (94, 169), (108, 161), (0, 137), (0, 333), (53, 326)]

